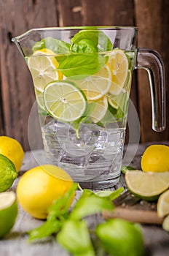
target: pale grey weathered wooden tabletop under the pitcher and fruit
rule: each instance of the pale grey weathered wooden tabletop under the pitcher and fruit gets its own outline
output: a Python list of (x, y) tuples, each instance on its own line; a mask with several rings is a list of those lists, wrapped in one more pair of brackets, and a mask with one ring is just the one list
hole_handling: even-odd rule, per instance
[[(131, 156), (137, 147), (134, 144), (128, 146), (127, 153), (125, 154), (125, 162), (130, 162), (131, 166), (139, 169), (141, 154), (143, 154), (147, 145), (148, 144), (140, 145), (134, 158)], [(25, 159), (20, 170), (20, 176), (31, 167), (43, 164), (44, 159), (44, 152), (41, 150), (25, 152)], [(20, 176), (12, 186), (14, 191)], [(122, 182), (123, 181), (120, 181), (116, 187), (121, 187)], [(77, 197), (78, 196), (77, 193)], [(100, 214), (89, 218), (90, 225), (101, 221), (103, 221), (103, 219)], [(5, 239), (0, 240), (0, 256), (68, 256), (68, 252), (56, 243), (55, 237), (44, 243), (28, 244), (28, 235), (26, 232), (41, 224), (41, 220), (34, 219), (26, 214), (22, 208), (19, 208), (15, 226)], [(146, 256), (168, 256), (169, 233), (165, 232), (165, 230), (162, 230), (161, 226), (157, 225), (141, 225), (141, 227), (144, 233)]]

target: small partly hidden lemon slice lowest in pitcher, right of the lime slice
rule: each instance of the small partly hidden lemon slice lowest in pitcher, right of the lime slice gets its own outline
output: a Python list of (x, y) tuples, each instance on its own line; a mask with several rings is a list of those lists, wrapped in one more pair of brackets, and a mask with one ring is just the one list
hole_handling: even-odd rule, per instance
[(94, 123), (98, 123), (98, 121), (101, 121), (101, 119), (106, 114), (107, 108), (108, 108), (108, 102), (107, 102), (106, 96), (101, 97), (101, 99), (98, 99), (98, 101), (95, 102), (95, 108), (91, 113)]

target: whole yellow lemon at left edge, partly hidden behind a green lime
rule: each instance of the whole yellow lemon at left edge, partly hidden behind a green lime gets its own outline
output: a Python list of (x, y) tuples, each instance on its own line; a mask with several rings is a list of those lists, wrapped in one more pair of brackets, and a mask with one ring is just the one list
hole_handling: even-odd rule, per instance
[(17, 172), (23, 163), (24, 151), (20, 143), (10, 137), (0, 136), (0, 154), (8, 157), (13, 164)]

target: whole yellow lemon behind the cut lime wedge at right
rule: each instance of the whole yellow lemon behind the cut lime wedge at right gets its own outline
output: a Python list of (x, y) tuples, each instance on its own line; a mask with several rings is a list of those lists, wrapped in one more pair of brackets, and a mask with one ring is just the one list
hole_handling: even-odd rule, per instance
[(145, 172), (169, 171), (169, 146), (151, 145), (144, 151), (141, 168)]

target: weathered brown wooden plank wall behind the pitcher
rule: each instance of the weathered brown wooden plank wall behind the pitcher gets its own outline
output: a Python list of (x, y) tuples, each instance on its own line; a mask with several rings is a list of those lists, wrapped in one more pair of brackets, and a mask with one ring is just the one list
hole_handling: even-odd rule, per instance
[[(11, 42), (28, 29), (47, 26), (138, 26), (138, 46), (157, 50), (165, 62), (167, 123), (169, 123), (169, 1), (168, 0), (0, 0), (0, 134), (28, 142), (28, 117), (34, 104), (31, 75)], [(146, 71), (134, 72), (131, 99), (141, 123), (141, 141), (168, 140), (152, 131), (151, 97)], [(39, 148), (38, 123), (32, 124)]]

